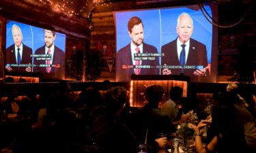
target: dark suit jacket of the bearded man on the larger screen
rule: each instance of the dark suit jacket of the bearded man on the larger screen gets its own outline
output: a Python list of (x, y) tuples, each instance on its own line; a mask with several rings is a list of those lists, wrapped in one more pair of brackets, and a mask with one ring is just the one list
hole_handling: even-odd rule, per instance
[[(154, 46), (143, 43), (143, 53), (158, 53)], [(130, 81), (132, 73), (134, 73), (134, 68), (123, 67), (123, 65), (133, 65), (132, 64), (132, 54), (130, 50), (130, 44), (121, 48), (117, 52), (116, 59), (116, 80), (119, 82)], [(159, 58), (156, 57), (155, 60), (143, 60), (141, 65), (159, 65)], [(141, 75), (159, 75), (159, 69), (141, 69)]]

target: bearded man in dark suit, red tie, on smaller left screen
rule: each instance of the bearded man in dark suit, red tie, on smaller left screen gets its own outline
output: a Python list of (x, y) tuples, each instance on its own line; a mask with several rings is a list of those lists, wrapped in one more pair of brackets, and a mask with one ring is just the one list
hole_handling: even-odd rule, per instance
[[(63, 78), (65, 73), (65, 54), (60, 48), (55, 46), (55, 38), (55, 31), (44, 30), (45, 45), (35, 50), (35, 54), (43, 54), (47, 59), (40, 60), (40, 57), (35, 57), (33, 72), (51, 73), (55, 78)], [(42, 65), (46, 67), (42, 67)]]

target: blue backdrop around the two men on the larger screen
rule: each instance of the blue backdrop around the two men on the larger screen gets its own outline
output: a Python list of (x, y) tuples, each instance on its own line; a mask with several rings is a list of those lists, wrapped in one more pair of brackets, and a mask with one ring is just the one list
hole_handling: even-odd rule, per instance
[[(213, 16), (212, 7), (209, 5), (205, 5), (205, 10)], [(122, 69), (134, 69), (134, 65), (120, 65), (119, 58), (119, 50), (128, 46), (131, 42), (131, 37), (128, 34), (128, 20), (133, 16), (137, 16), (141, 18), (143, 22), (143, 34), (144, 40), (143, 42), (146, 44), (150, 44), (154, 46), (160, 56), (154, 56), (159, 59), (159, 71), (154, 75), (162, 74), (162, 66), (161, 65), (161, 48), (165, 44), (177, 39), (177, 17), (182, 13), (186, 12), (190, 14), (193, 18), (193, 34), (191, 35), (192, 39), (195, 39), (201, 44), (203, 44), (206, 48), (207, 52), (207, 62), (209, 66), (209, 74), (207, 76), (193, 76), (191, 77), (191, 82), (215, 82), (216, 81), (216, 30), (212, 26), (210, 22), (203, 16), (203, 13), (199, 9), (197, 5), (190, 6), (182, 6), (182, 7), (169, 7), (169, 8), (160, 8), (160, 9), (151, 9), (151, 10), (132, 10), (132, 11), (122, 11), (115, 12), (115, 25), (116, 25), (116, 50), (117, 50), (117, 59), (116, 59), (116, 80), (117, 81), (130, 81), (130, 72), (129, 75), (125, 75), (124, 73), (120, 73), (118, 67), (122, 67)], [(215, 16), (215, 14), (214, 14)], [(144, 53), (144, 51), (143, 51)], [(143, 56), (143, 55), (141, 55)], [(126, 58), (122, 57), (121, 61), (126, 61)], [(172, 60), (173, 57), (170, 57)], [(149, 58), (147, 58), (149, 59)], [(197, 59), (196, 59), (197, 60)], [(148, 69), (149, 67), (146, 67)], [(155, 67), (156, 65), (154, 65)], [(193, 65), (194, 66), (194, 65)], [(152, 67), (150, 67), (152, 68)], [(144, 69), (144, 68), (143, 68)], [(122, 78), (127, 78), (128, 80), (123, 80)], [(120, 79), (121, 78), (121, 79)]]

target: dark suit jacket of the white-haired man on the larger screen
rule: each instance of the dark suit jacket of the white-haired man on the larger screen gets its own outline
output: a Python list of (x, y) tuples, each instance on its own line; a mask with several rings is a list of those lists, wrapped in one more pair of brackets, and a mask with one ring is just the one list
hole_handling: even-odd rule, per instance
[[(164, 54), (161, 58), (162, 65), (180, 65), (180, 61), (177, 55), (177, 39), (169, 42), (162, 46), (161, 52)], [(190, 46), (188, 51), (188, 58), (186, 60), (186, 65), (203, 65), (203, 67), (208, 66), (208, 58), (205, 45), (201, 44), (199, 41), (190, 38)], [(172, 75), (180, 75), (181, 69), (170, 69)], [(184, 75), (193, 76), (195, 69), (184, 69)], [(209, 71), (206, 72), (208, 75)]]

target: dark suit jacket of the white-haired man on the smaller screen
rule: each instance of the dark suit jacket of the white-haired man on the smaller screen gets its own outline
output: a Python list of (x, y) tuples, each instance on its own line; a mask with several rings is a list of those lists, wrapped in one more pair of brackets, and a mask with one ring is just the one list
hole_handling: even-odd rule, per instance
[[(21, 65), (29, 65), (32, 64), (32, 49), (29, 48), (28, 46), (25, 46), (23, 44), (23, 54), (22, 54), (22, 59), (20, 61)], [(6, 64), (17, 64), (16, 61), (16, 56), (15, 56), (15, 45), (13, 44), (12, 46), (8, 47), (6, 49)], [(12, 72), (26, 72), (25, 69), (27, 67), (12, 67)]]

